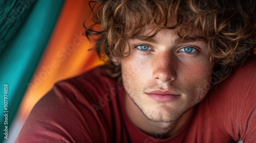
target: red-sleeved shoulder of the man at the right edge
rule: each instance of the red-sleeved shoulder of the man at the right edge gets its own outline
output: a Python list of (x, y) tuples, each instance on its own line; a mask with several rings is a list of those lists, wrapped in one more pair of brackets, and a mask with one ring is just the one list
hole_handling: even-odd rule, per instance
[(248, 141), (256, 136), (255, 71), (256, 58), (251, 57), (207, 95), (212, 114), (235, 140)]

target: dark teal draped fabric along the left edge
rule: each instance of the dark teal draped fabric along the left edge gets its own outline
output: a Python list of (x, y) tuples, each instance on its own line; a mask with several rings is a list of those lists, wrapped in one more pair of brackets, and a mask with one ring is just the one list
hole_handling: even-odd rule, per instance
[[(2, 41), (0, 42), (1, 139), (5, 139), (5, 126), (8, 126), (8, 134), (10, 133), (9, 128), (13, 117), (45, 50), (64, 3), (63, 0), (12, 2), (7, 4), (0, 0), (0, 38)], [(26, 3), (30, 6), (25, 5)], [(10, 12), (15, 13), (17, 11), (19, 11), (19, 15), (12, 18), (13, 21), (6, 22), (11, 16)], [(4, 103), (5, 84), (8, 84), (7, 110), (4, 106), (6, 104)], [(6, 117), (4, 115), (6, 113), (8, 113), (8, 125), (5, 125)]]

